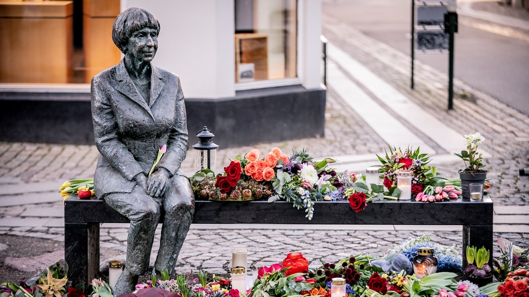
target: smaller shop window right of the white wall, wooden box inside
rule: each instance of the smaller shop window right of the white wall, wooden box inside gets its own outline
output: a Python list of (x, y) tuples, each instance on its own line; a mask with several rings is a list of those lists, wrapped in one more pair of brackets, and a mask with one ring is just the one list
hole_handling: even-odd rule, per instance
[(296, 0), (235, 0), (235, 82), (296, 77)]

